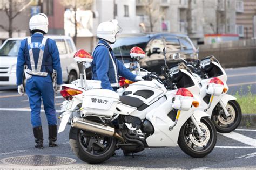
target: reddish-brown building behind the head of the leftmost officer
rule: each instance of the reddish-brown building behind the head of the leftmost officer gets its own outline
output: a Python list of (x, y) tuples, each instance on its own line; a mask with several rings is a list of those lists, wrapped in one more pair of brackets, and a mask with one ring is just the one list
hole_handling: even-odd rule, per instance
[[(24, 2), (20, 4), (21, 2)], [(25, 3), (29, 1), (12, 1), (14, 7), (14, 15), (15, 13), (21, 9)], [(4, 6), (10, 1), (2, 0), (0, 1), (0, 25), (6, 27), (8, 29), (9, 20), (8, 16), (6, 16), (5, 11), (3, 11)], [(48, 26), (48, 34), (64, 34), (64, 7), (60, 4), (59, 0), (40, 0), (33, 2), (30, 6), (28, 6), (25, 10), (23, 10), (17, 17), (13, 20), (13, 34), (12, 37), (25, 37), (29, 36), (29, 19), (32, 15), (36, 13), (45, 13), (48, 15), (49, 26)], [(9, 38), (8, 31), (0, 27), (0, 45), (2, 42)]]

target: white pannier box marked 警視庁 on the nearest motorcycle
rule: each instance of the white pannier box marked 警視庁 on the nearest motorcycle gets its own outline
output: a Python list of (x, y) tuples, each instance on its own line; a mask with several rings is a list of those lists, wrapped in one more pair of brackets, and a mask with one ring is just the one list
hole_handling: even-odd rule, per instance
[(106, 89), (92, 89), (84, 93), (83, 114), (113, 116), (117, 104), (120, 103), (116, 92)]

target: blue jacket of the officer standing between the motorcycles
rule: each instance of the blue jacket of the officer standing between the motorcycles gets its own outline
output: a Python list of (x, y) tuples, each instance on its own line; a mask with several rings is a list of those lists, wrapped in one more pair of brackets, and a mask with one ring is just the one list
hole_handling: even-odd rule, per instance
[(97, 46), (92, 54), (92, 79), (102, 81), (102, 88), (109, 90), (113, 90), (111, 84), (119, 83), (119, 75), (131, 81), (135, 81), (136, 75), (132, 74), (121, 61), (117, 60), (114, 57), (114, 53), (111, 47), (107, 44), (107, 42), (105, 42), (104, 40), (99, 40), (99, 44), (104, 44), (105, 46)]

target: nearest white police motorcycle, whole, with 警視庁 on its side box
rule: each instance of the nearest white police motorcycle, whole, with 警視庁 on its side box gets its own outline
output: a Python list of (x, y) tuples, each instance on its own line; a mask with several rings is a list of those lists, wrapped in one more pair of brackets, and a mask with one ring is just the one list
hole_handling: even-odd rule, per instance
[[(75, 54), (78, 62), (91, 62), (85, 51)], [(145, 81), (131, 84), (119, 96), (100, 89), (100, 81), (79, 80), (62, 86), (59, 132), (70, 117), (70, 146), (85, 162), (96, 164), (114, 151), (124, 155), (149, 147), (176, 147), (191, 157), (204, 157), (216, 143), (217, 134), (208, 114), (196, 110), (200, 88), (184, 63), (163, 68), (166, 80), (148, 74)], [(84, 75), (85, 71), (84, 71)]]

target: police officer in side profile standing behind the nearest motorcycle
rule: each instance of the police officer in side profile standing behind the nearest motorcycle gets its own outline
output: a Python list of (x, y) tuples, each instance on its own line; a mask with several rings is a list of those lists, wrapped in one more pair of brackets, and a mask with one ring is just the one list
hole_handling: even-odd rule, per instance
[(131, 81), (143, 80), (132, 74), (122, 62), (114, 57), (111, 44), (116, 42), (120, 31), (116, 19), (100, 23), (97, 28), (99, 42), (92, 53), (92, 79), (102, 81), (102, 88), (116, 91), (119, 87), (119, 75)]

